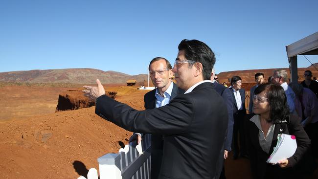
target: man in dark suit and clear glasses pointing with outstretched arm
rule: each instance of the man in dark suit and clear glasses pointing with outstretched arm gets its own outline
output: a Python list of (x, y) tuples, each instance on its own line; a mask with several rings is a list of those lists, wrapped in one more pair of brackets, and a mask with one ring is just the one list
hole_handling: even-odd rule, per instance
[(227, 107), (210, 81), (215, 64), (213, 51), (203, 42), (182, 40), (173, 72), (179, 94), (169, 104), (138, 111), (105, 95), (97, 87), (84, 86), (96, 99), (95, 113), (126, 130), (164, 135), (159, 179), (215, 179), (224, 155)]

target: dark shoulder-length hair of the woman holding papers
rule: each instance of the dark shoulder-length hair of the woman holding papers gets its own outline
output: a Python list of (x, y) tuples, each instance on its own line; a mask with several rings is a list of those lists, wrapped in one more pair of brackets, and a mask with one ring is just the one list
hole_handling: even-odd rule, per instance
[(268, 122), (275, 124), (283, 120), (288, 121), (289, 107), (283, 87), (273, 83), (263, 83), (255, 89), (254, 94), (257, 95), (263, 91), (265, 91), (265, 97), (270, 104), (270, 118)]

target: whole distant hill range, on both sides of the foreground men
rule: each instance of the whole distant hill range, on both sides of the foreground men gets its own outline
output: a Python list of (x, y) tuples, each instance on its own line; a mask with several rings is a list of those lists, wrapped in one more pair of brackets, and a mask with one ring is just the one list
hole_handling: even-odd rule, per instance
[[(318, 68), (318, 63), (314, 64)], [(218, 74), (221, 83), (228, 83), (228, 79), (234, 75), (242, 78), (243, 83), (254, 83), (254, 74), (262, 72), (265, 81), (273, 75), (272, 69), (249, 69), (238, 71), (226, 71)], [(289, 71), (289, 68), (281, 68)], [(311, 70), (313, 76), (318, 77), (318, 71), (313, 67), (298, 68), (298, 81), (304, 80), (305, 70)], [(22, 82), (22, 83), (73, 83), (73, 84), (94, 84), (98, 78), (103, 84), (122, 84), (127, 80), (135, 79), (138, 85), (147, 84), (147, 74), (128, 75), (117, 71), (102, 71), (92, 68), (69, 68), (69, 69), (47, 69), (29, 71), (10, 71), (0, 73), (0, 82)], [(151, 82), (150, 82), (151, 84)]]

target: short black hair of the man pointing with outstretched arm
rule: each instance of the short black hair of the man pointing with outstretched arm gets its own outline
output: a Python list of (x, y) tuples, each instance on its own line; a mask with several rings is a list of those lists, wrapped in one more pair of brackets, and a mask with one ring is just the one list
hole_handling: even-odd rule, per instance
[[(210, 80), (211, 71), (215, 64), (215, 55), (203, 42), (198, 40), (182, 40), (178, 46), (179, 51), (184, 51), (184, 56), (186, 60), (193, 60), (199, 62), (203, 66), (203, 79)], [(192, 67), (193, 64), (189, 63), (189, 67)]]

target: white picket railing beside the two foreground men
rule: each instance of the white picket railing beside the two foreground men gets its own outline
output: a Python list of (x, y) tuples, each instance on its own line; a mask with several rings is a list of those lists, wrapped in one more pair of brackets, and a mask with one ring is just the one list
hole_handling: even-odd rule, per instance
[[(131, 142), (118, 154), (106, 154), (97, 161), (99, 179), (150, 179), (151, 134), (144, 134), (140, 144)], [(87, 177), (98, 179), (97, 170), (91, 168)], [(81, 176), (78, 179), (86, 178)]]

